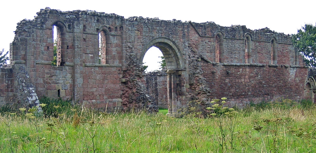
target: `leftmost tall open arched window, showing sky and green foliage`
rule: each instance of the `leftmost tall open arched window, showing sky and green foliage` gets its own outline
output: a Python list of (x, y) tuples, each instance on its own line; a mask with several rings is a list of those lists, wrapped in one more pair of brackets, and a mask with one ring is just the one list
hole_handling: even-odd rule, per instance
[(54, 57), (52, 65), (54, 66), (64, 66), (62, 62), (62, 40), (61, 40), (61, 30), (58, 26), (53, 26), (53, 40), (54, 40)]

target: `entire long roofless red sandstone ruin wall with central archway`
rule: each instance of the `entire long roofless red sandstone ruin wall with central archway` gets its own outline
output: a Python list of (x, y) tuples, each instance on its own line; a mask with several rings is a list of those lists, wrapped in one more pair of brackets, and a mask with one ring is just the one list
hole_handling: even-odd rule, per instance
[[(1, 68), (0, 85), (6, 88), (2, 103), (23, 99), (21, 91), (12, 92), (17, 66), (25, 67), (39, 97), (71, 98), (106, 109), (148, 108), (163, 96), (169, 112), (194, 99), (204, 104), (227, 97), (230, 105), (243, 106), (277, 97), (304, 98), (308, 68), (289, 35), (267, 28), (124, 18), (89, 10), (46, 8), (37, 15), (18, 23), (10, 49), (12, 70)], [(58, 67), (51, 65), (54, 25), (59, 31)], [(99, 64), (101, 31), (106, 41)], [(167, 61), (170, 95), (161, 90), (158, 98), (146, 89), (153, 85), (145, 83), (140, 65), (152, 46)]]

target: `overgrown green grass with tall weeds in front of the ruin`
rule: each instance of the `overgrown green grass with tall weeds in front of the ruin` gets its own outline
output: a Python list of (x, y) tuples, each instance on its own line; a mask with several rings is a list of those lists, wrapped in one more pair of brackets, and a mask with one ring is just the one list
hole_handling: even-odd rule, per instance
[(196, 112), (167, 117), (166, 109), (157, 114), (72, 111), (56, 118), (2, 112), (0, 152), (316, 152), (313, 105), (248, 107), (208, 118)]

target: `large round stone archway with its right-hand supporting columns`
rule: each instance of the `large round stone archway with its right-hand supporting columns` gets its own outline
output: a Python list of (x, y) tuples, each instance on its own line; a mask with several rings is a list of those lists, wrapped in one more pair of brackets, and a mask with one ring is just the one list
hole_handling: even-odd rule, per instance
[(151, 40), (142, 50), (140, 63), (143, 63), (143, 58), (147, 50), (151, 47), (157, 47), (165, 57), (167, 64), (167, 93), (168, 93), (168, 113), (169, 116), (174, 116), (177, 113), (177, 77), (179, 71), (185, 69), (183, 55), (174, 41), (166, 37), (158, 37)]

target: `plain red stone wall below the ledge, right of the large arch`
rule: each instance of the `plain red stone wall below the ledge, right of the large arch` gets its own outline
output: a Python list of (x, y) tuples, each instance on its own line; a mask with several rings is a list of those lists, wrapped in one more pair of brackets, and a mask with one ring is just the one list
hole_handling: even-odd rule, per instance
[(201, 65), (210, 96), (227, 97), (227, 105), (243, 107), (279, 97), (304, 98), (305, 67), (212, 65), (203, 60)]

